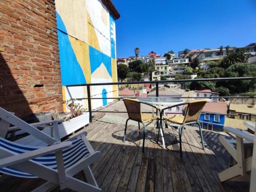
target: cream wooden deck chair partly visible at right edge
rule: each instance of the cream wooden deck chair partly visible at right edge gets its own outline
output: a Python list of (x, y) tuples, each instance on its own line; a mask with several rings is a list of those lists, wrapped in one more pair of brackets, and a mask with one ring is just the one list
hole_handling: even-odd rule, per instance
[(219, 173), (221, 182), (230, 181), (250, 181), (252, 156), (245, 158), (244, 143), (253, 143), (254, 137), (240, 130), (225, 126), (224, 131), (236, 136), (234, 139), (225, 139), (219, 137), (220, 142), (237, 161), (237, 164), (223, 170)]

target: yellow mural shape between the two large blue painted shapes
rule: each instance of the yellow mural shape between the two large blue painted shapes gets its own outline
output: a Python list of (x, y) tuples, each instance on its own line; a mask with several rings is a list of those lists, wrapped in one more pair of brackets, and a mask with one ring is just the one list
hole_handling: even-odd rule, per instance
[(89, 57), (89, 46), (74, 37), (69, 36), (70, 43), (76, 55), (76, 59), (83, 71), (87, 83), (91, 83), (91, 66)]

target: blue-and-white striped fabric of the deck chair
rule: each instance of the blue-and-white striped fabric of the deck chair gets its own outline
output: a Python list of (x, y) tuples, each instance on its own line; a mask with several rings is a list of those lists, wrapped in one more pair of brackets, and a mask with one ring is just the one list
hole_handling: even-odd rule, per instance
[[(90, 156), (90, 153), (82, 139), (76, 139), (72, 141), (72, 143), (73, 145), (70, 148), (67, 148), (66, 150), (62, 151), (65, 169), (74, 165), (79, 160)], [(28, 151), (37, 150), (38, 148), (41, 147), (18, 144), (0, 137), (0, 148), (2, 150), (11, 152), (12, 154), (16, 155)], [(56, 158), (54, 153), (34, 158), (31, 161), (48, 166), (52, 169), (57, 169)], [(12, 175), (15, 177), (36, 178), (31, 174), (20, 172), (19, 170), (9, 166), (0, 168), (0, 173)]]

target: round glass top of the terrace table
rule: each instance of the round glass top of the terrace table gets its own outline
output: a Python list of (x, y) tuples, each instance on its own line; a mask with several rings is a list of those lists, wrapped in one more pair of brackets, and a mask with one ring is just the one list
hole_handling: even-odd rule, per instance
[(170, 98), (170, 97), (142, 97), (138, 98), (139, 101), (154, 103), (154, 104), (179, 104), (184, 102), (181, 99)]

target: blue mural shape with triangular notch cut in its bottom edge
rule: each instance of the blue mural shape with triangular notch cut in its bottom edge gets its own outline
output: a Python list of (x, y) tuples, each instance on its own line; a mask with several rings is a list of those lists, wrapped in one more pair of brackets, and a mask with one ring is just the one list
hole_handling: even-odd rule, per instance
[(112, 77), (112, 70), (111, 70), (111, 57), (105, 55), (94, 49), (92, 46), (89, 46), (89, 55), (90, 55), (90, 63), (91, 63), (91, 74), (101, 65), (103, 62), (106, 70), (108, 71), (109, 75)]

